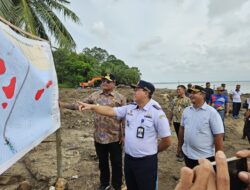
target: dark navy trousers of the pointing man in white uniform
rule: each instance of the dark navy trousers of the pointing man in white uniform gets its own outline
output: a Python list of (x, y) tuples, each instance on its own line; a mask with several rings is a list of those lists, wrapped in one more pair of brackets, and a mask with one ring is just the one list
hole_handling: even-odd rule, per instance
[(157, 154), (134, 158), (125, 154), (124, 173), (127, 190), (155, 190)]

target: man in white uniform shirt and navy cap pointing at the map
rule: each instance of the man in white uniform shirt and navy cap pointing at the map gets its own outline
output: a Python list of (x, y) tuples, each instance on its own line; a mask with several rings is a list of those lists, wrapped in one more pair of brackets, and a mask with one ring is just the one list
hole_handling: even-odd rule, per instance
[[(152, 100), (153, 84), (139, 81), (134, 88), (135, 103), (122, 107), (90, 105), (79, 102), (79, 110), (125, 118), (124, 173), (128, 190), (155, 190), (157, 153), (171, 144), (168, 119), (159, 104)], [(161, 138), (158, 144), (157, 139)]]

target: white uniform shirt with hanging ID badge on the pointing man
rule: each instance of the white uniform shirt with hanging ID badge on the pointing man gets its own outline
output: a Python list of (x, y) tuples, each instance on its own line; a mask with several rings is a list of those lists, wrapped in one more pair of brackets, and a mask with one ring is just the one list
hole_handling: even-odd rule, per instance
[[(171, 135), (166, 114), (150, 100), (142, 109), (136, 104), (114, 108), (118, 117), (125, 118), (125, 153), (140, 158), (156, 154), (157, 138)], [(143, 138), (138, 138), (138, 130), (142, 130)]]

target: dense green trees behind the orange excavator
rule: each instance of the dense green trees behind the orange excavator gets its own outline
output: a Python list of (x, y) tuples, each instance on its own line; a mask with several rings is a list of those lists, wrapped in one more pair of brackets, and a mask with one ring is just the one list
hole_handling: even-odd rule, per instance
[(78, 86), (93, 77), (112, 73), (117, 84), (135, 84), (140, 80), (140, 71), (137, 67), (129, 67), (124, 61), (101, 48), (85, 48), (82, 53), (75, 53), (66, 49), (53, 52), (58, 81), (61, 84)]

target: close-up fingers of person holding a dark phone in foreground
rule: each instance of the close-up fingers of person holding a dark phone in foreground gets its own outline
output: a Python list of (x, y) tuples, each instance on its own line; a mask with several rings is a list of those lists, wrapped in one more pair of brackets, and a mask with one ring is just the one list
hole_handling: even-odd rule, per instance
[[(250, 158), (250, 150), (241, 150), (236, 153), (237, 157)], [(182, 167), (180, 180), (175, 190), (230, 190), (230, 177), (226, 155), (218, 151), (215, 156), (216, 172), (211, 163), (206, 159), (199, 160), (198, 166), (194, 169)], [(239, 179), (247, 185), (245, 190), (250, 189), (250, 162), (248, 172), (240, 171)]]

